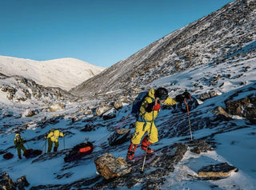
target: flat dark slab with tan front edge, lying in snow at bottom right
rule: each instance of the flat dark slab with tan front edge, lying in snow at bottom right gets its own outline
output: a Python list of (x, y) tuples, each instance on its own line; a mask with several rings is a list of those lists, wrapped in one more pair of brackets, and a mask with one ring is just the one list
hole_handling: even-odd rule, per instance
[(198, 176), (209, 180), (219, 180), (230, 176), (231, 172), (236, 172), (237, 170), (238, 168), (235, 168), (234, 166), (227, 163), (221, 163), (202, 167), (198, 170)]

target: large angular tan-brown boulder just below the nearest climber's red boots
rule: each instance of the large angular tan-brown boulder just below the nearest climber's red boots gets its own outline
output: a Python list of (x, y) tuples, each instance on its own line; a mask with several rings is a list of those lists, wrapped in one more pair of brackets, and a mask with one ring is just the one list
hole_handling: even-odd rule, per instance
[(94, 160), (98, 174), (103, 176), (106, 180), (110, 178), (124, 176), (130, 173), (130, 164), (126, 163), (126, 160), (122, 157), (117, 159), (110, 153), (106, 152), (103, 156), (100, 156)]

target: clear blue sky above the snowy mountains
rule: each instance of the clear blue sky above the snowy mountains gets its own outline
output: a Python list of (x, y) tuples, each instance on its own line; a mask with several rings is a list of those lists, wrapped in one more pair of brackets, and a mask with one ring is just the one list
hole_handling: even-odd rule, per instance
[(232, 0), (0, 0), (0, 55), (110, 67)]

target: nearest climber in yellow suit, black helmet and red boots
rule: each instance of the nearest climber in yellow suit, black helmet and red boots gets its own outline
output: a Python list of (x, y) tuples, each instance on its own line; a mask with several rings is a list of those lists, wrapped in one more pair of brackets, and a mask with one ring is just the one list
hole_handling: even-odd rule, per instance
[[(150, 144), (158, 142), (158, 129), (154, 125), (154, 120), (158, 117), (158, 112), (161, 109), (161, 104), (175, 105), (178, 102), (184, 101), (184, 98), (190, 98), (190, 93), (183, 93), (174, 99), (168, 97), (168, 91), (165, 88), (150, 89), (148, 95), (142, 101), (139, 109), (139, 116), (135, 123), (135, 133), (131, 139), (130, 146), (127, 152), (127, 159), (134, 158), (134, 152), (143, 138), (141, 149), (148, 153), (153, 153), (154, 150), (149, 147)], [(178, 100), (176, 100), (178, 99)]]

